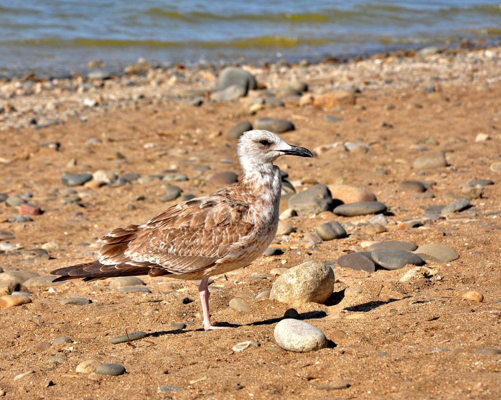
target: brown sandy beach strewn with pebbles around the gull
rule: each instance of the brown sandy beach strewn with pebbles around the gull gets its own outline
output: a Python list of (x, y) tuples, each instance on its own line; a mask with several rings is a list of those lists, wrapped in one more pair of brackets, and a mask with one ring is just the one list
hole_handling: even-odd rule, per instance
[[(257, 89), (229, 100), (235, 92), (214, 91), (219, 65), (157, 68), (138, 60), (120, 76), (96, 70), (0, 81), (0, 289), (29, 291), (31, 300), (0, 309), (0, 393), (500, 398), (501, 48), (463, 47), (239, 65)], [(231, 128), (243, 121), (256, 127), (265, 117), (291, 122), (294, 129), (281, 137), (316, 157), (277, 160), (289, 182), (281, 224), (292, 227), (277, 235), (278, 250), (212, 277), (212, 319), (234, 329), (203, 331), (197, 285), (189, 281), (139, 277), (145, 292), (120, 291), (111, 280), (32, 280), (94, 260), (96, 241), (114, 228), (230, 184), (234, 177), (220, 173), (241, 173)], [(445, 162), (416, 164), (426, 154)], [(70, 186), (65, 176), (73, 174), (93, 176)], [(288, 217), (294, 191), (315, 184), (328, 185), (335, 199), (346, 196), (344, 203), (373, 193), (387, 211), (346, 217), (331, 207)], [(444, 211), (453, 203), (462, 206)], [(322, 240), (318, 227), (333, 221), (347, 237)], [(414, 265), (367, 272), (338, 264), (381, 241), (445, 245), (459, 257), (429, 258), (426, 273)], [(309, 258), (333, 268), (334, 293), (325, 304), (295, 306), (294, 314), (286, 303), (255, 298), (285, 272), (277, 268)], [(463, 298), (469, 291), (483, 301)], [(80, 303), (64, 301), (73, 298)], [(234, 298), (247, 311), (229, 307)], [(286, 312), (319, 328), (329, 346), (281, 349), (274, 328)], [(135, 331), (147, 336), (110, 343)], [(245, 341), (259, 346), (232, 350)], [(126, 373), (77, 371), (86, 360), (118, 363)]]

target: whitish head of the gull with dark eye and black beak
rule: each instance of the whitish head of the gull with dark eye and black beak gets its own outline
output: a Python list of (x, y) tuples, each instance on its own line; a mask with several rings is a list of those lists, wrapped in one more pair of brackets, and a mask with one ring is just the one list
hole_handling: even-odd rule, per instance
[(260, 129), (244, 132), (238, 139), (236, 153), (244, 169), (252, 164), (273, 163), (286, 154), (313, 157), (307, 148), (287, 144), (275, 133)]

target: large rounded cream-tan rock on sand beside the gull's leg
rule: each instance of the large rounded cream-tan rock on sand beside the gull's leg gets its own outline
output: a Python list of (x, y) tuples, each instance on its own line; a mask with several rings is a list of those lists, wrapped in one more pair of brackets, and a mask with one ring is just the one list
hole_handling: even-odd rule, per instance
[(334, 291), (334, 271), (318, 261), (290, 268), (272, 286), (270, 299), (291, 306), (308, 302), (324, 303)]

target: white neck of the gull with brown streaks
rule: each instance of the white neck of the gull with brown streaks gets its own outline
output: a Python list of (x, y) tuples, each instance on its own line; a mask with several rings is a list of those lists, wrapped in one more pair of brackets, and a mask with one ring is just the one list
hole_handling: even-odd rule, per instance
[(240, 182), (262, 206), (273, 207), (279, 204), (282, 179), (280, 168), (272, 162), (246, 165)]

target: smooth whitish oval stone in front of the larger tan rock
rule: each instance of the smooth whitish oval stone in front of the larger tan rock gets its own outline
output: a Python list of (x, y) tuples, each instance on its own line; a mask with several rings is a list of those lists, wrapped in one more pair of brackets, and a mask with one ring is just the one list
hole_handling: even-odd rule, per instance
[(327, 347), (327, 338), (320, 329), (293, 318), (280, 321), (273, 335), (277, 344), (287, 351), (308, 352)]

